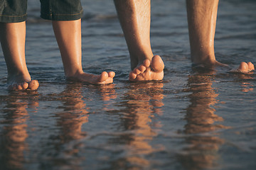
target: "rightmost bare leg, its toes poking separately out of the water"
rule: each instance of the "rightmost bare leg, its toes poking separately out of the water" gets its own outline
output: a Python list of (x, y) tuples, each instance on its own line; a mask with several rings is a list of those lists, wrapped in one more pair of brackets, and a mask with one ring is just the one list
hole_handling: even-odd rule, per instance
[[(215, 59), (214, 36), (217, 20), (218, 0), (186, 0), (188, 32), (193, 64), (206, 68), (226, 66)], [(239, 69), (248, 72), (252, 64), (242, 62)], [(241, 69), (242, 68), (242, 69)]]

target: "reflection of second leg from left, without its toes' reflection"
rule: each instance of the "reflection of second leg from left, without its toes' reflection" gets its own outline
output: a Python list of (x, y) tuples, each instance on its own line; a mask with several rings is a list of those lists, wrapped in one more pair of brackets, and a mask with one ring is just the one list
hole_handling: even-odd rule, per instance
[(47, 147), (54, 150), (46, 150), (43, 154), (50, 154), (53, 158), (49, 162), (43, 162), (44, 167), (58, 164), (60, 169), (80, 169), (84, 158), (78, 157), (78, 152), (83, 147), (81, 139), (87, 135), (82, 132), (82, 125), (88, 121), (88, 111), (81, 89), (80, 83), (67, 84), (62, 93), (51, 96), (56, 97), (63, 105), (58, 106), (60, 112), (53, 113), (59, 131), (50, 136)]

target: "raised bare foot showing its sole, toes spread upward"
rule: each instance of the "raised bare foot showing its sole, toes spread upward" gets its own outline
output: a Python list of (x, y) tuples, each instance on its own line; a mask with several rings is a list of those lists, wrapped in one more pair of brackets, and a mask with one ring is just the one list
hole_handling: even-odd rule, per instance
[(151, 63), (148, 59), (144, 60), (129, 74), (130, 81), (150, 81), (161, 80), (164, 78), (164, 62), (159, 55), (155, 55)]

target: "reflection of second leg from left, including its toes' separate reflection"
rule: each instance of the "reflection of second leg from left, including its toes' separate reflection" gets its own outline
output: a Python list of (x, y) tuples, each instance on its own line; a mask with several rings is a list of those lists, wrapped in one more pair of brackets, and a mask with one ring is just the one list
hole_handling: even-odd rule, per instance
[[(53, 111), (56, 118), (56, 127), (58, 132), (50, 135), (46, 149), (42, 155), (51, 157), (50, 160), (41, 162), (42, 167), (58, 166), (60, 169), (84, 169), (81, 164), (87, 157), (81, 155), (81, 150), (84, 149), (84, 140), (87, 137), (87, 132), (82, 131), (82, 126), (88, 123), (90, 108), (86, 105), (84, 84), (78, 82), (70, 82), (66, 85), (65, 90), (60, 94), (48, 96), (51, 100), (61, 101), (58, 106), (58, 112)], [(109, 101), (115, 98), (114, 85), (110, 86), (95, 86), (92, 89), (97, 89), (100, 92), (102, 101)], [(102, 110), (107, 111), (108, 106), (102, 107)], [(42, 159), (46, 159), (42, 157)]]

